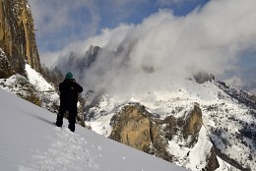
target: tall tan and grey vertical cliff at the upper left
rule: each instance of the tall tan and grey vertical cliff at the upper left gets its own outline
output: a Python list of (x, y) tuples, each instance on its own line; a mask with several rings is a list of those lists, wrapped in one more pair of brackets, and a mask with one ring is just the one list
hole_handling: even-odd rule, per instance
[(28, 0), (0, 0), (0, 48), (7, 57), (0, 59), (0, 78), (23, 75), (25, 63), (41, 70)]

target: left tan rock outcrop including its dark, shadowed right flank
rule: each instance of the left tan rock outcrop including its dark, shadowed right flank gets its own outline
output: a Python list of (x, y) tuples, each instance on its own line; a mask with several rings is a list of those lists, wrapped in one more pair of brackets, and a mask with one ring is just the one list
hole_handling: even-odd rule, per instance
[(171, 161), (166, 150), (167, 142), (152, 119), (144, 106), (138, 103), (127, 105), (112, 118), (113, 131), (109, 138)]

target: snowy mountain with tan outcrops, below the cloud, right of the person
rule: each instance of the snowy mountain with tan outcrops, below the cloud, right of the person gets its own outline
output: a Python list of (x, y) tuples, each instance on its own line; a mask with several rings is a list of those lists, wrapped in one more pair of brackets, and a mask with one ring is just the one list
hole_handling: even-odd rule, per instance
[[(92, 49), (80, 58), (71, 54), (67, 61), (72, 65), (63, 62), (58, 67), (73, 69), (83, 83), (83, 74), (95, 65), (97, 55), (104, 53), (101, 48)], [(119, 50), (114, 53), (121, 53)], [(148, 69), (146, 74), (155, 72)], [(100, 135), (189, 170), (256, 169), (254, 94), (216, 81), (205, 72), (150, 87), (126, 95), (104, 89), (88, 91), (86, 125)]]

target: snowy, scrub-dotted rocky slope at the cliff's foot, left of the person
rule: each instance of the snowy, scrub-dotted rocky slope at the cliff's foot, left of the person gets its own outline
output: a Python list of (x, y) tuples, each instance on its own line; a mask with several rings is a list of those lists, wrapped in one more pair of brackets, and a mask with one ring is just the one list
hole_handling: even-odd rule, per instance
[(30, 65), (26, 64), (25, 69), (26, 77), (16, 74), (8, 79), (0, 79), (0, 88), (57, 113), (59, 95), (54, 86), (48, 84)]

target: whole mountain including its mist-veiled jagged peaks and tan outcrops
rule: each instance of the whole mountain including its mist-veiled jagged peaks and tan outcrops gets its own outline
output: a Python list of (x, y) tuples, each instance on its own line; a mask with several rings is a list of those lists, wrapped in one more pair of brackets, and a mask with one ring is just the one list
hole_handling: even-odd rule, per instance
[(136, 44), (124, 41), (114, 51), (91, 46), (59, 63), (87, 89), (87, 125), (191, 170), (253, 170), (255, 95), (196, 68), (132, 63)]

